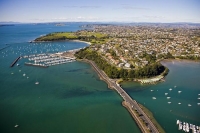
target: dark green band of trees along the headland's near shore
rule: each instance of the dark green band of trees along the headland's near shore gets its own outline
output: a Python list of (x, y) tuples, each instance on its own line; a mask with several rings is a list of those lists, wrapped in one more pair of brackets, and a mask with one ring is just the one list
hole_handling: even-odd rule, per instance
[(160, 63), (154, 63), (137, 70), (127, 70), (122, 68), (118, 69), (115, 66), (109, 64), (96, 51), (92, 51), (89, 48), (81, 49), (75, 54), (75, 56), (79, 59), (88, 59), (94, 61), (97, 66), (102, 69), (110, 78), (148, 78), (157, 76), (165, 70), (165, 67)]

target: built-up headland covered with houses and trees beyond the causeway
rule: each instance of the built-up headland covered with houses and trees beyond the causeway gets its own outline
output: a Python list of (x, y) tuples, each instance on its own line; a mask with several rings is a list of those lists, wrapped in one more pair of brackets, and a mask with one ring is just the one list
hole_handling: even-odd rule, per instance
[[(200, 29), (194, 25), (86, 25), (55, 32), (35, 42), (78, 40), (90, 43), (75, 56), (94, 61), (109, 78), (155, 83), (167, 75), (163, 59), (200, 59)], [(184, 33), (184, 34), (183, 34)]]

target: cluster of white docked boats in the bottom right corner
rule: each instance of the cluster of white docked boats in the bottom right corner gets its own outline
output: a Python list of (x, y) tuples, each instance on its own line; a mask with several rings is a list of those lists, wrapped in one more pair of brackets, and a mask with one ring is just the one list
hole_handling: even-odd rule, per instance
[(192, 133), (200, 133), (200, 126), (196, 126), (187, 122), (181, 122), (180, 120), (177, 120), (176, 124), (178, 125), (178, 130), (182, 130), (187, 133), (189, 133), (190, 130)]

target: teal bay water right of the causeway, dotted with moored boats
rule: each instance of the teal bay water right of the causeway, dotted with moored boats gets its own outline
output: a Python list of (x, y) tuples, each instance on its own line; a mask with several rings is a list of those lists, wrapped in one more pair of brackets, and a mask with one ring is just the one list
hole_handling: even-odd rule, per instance
[[(200, 103), (200, 99), (198, 99), (200, 97), (198, 95), (200, 94), (200, 63), (169, 61), (162, 62), (162, 64), (170, 70), (165, 82), (157, 85), (126, 82), (122, 84), (123, 88), (134, 99), (152, 111), (156, 120), (167, 133), (182, 132), (178, 131), (176, 119), (199, 126), (200, 106), (197, 103)], [(182, 92), (178, 93), (178, 91)], [(165, 93), (168, 95), (166, 96)], [(153, 100), (152, 97), (156, 97), (156, 100)], [(167, 99), (167, 97), (171, 98)], [(192, 106), (188, 106), (188, 104)]]

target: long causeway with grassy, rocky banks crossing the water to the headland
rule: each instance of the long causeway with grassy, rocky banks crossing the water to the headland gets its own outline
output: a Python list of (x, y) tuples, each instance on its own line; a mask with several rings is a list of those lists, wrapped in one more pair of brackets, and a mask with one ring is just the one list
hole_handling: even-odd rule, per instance
[[(141, 109), (136, 100), (133, 100), (116, 82), (116, 80), (110, 79), (102, 70), (100, 70), (93, 61), (84, 59), (83, 61), (88, 62), (92, 65), (94, 70), (98, 73), (100, 78), (108, 83), (108, 87), (116, 90), (119, 95), (123, 98), (123, 105), (130, 112), (136, 123), (138, 124), (140, 130), (143, 133), (159, 133), (156, 126), (146, 115), (146, 113)], [(137, 113), (136, 113), (137, 112)], [(139, 114), (139, 115), (138, 115)]]

